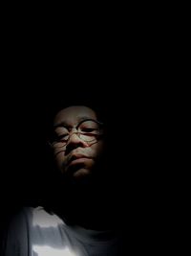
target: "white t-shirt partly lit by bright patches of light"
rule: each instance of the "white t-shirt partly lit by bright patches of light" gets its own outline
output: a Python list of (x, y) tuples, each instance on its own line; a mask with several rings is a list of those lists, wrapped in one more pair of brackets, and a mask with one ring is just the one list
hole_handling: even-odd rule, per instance
[(118, 256), (110, 231), (67, 225), (43, 207), (26, 207), (11, 222), (5, 256)]

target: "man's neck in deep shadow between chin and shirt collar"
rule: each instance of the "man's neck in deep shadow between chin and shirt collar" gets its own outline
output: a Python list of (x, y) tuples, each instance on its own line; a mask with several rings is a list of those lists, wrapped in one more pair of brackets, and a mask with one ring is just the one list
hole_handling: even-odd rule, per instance
[[(66, 188), (65, 188), (66, 189)], [(73, 186), (60, 192), (54, 211), (66, 222), (88, 229), (112, 229), (117, 224), (115, 198), (108, 187), (97, 184)]]

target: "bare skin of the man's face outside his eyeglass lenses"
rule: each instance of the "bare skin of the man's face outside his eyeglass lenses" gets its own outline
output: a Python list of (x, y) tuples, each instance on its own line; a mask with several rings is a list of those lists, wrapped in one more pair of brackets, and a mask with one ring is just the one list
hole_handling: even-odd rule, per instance
[[(84, 117), (97, 120), (96, 112), (93, 109), (84, 105), (69, 106), (56, 114), (53, 125), (65, 123), (72, 134), (77, 131), (75, 127)], [(59, 132), (59, 128), (57, 131)], [(89, 145), (76, 134), (73, 134), (68, 141), (66, 151), (53, 149), (58, 170), (64, 175), (73, 176), (75, 179), (91, 175), (97, 160), (102, 155), (103, 147), (102, 139)]]

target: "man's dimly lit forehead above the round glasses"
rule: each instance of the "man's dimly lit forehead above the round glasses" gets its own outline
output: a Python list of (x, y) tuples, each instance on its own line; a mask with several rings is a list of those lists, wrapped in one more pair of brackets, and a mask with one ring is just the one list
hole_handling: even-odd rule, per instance
[(96, 112), (84, 105), (74, 105), (60, 110), (53, 120), (53, 125), (59, 123), (66, 123), (67, 125), (74, 126), (83, 119), (92, 118), (96, 119)]

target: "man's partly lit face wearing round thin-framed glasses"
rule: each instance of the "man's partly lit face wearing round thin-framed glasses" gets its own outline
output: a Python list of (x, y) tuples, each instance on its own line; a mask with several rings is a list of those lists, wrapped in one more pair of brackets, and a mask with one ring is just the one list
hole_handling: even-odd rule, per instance
[(53, 121), (57, 142), (53, 153), (59, 171), (74, 178), (91, 175), (103, 151), (96, 112), (86, 106), (69, 106)]

